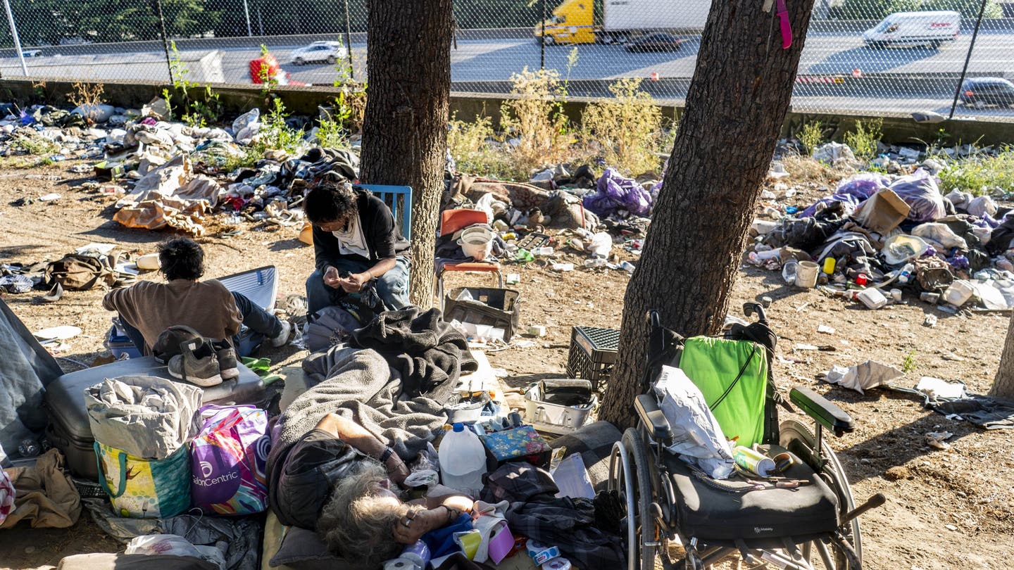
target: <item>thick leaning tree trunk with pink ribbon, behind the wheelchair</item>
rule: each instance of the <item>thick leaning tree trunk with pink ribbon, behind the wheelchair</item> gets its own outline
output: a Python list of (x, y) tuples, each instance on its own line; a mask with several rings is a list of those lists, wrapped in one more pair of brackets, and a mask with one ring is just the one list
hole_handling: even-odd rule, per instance
[(789, 0), (793, 43), (758, 0), (713, 0), (644, 253), (624, 297), (619, 354), (602, 417), (635, 423), (645, 313), (683, 336), (718, 333), (779, 130), (813, 0)]

